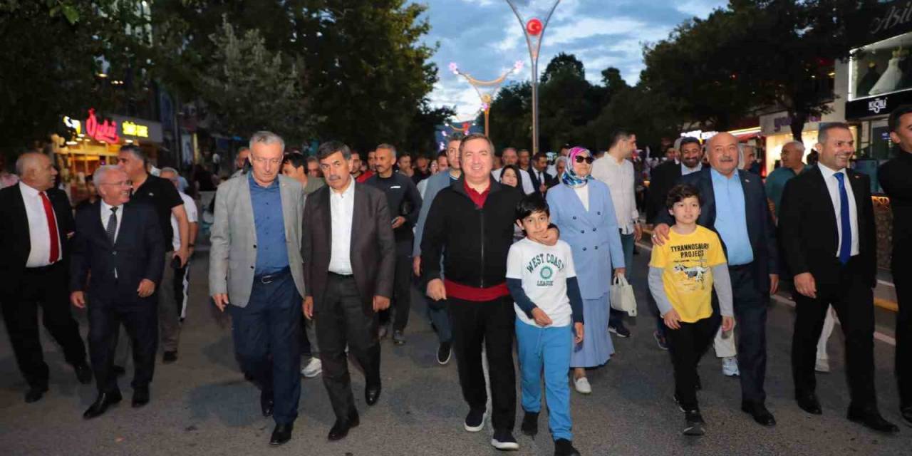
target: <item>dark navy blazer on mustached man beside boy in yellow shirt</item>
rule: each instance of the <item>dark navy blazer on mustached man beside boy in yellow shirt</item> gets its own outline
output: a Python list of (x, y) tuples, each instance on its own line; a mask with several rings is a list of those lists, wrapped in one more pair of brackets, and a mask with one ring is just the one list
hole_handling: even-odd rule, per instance
[[(678, 183), (689, 183), (697, 187), (703, 202), (697, 223), (716, 231), (716, 193), (712, 189), (710, 170), (707, 166), (699, 172), (681, 176)], [(741, 189), (744, 191), (744, 214), (747, 218), (747, 235), (753, 250), (753, 273), (758, 291), (762, 295), (769, 295), (770, 275), (779, 274), (779, 254), (776, 250), (776, 232), (772, 226), (770, 206), (766, 202), (766, 190), (763, 189), (760, 176), (751, 171), (738, 170), (738, 177), (741, 178)], [(675, 223), (668, 211), (659, 211), (656, 221), (668, 225)], [(724, 241), (722, 249), (726, 250)], [(727, 250), (725, 255), (728, 257)]]

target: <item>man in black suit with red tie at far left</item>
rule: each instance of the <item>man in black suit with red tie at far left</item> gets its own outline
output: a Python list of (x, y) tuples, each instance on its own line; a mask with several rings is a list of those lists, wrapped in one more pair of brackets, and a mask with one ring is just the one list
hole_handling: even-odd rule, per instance
[(92, 381), (86, 346), (67, 305), (67, 261), (73, 212), (67, 194), (52, 188), (57, 171), (46, 155), (16, 161), (20, 181), (0, 190), (0, 305), (16, 363), (28, 383), (26, 402), (47, 391), (48, 369), (38, 337), (44, 326), (63, 348), (80, 383)]

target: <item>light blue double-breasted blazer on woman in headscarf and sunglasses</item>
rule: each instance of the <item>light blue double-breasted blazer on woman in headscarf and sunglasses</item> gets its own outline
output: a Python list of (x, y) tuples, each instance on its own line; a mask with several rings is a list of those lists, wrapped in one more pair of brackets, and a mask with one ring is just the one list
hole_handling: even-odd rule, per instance
[(591, 180), (589, 210), (574, 189), (563, 183), (547, 193), (551, 222), (573, 251), (576, 281), (583, 299), (607, 295), (614, 268), (624, 267), (624, 250), (617, 227), (614, 203), (605, 182)]

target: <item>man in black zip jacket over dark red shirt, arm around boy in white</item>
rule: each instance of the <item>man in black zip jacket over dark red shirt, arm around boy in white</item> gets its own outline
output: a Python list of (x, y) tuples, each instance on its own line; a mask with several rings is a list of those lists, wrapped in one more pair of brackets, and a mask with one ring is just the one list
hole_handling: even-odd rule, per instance
[[(453, 352), (462, 396), (469, 403), (465, 430), (484, 428), (485, 381), (482, 341), (491, 374), (492, 445), (516, 450), (516, 374), (513, 371), (513, 300), (506, 286), (506, 260), (513, 243), (518, 189), (491, 177), (493, 146), (481, 134), (460, 143), (462, 177), (431, 203), (421, 240), (421, 264), (431, 299), (447, 299)], [(446, 278), (440, 274), (440, 256)]]

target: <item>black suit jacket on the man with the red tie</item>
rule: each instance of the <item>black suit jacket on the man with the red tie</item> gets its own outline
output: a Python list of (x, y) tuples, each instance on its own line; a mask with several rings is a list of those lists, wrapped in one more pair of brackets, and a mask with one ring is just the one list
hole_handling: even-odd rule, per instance
[[(73, 233), (73, 210), (67, 193), (59, 189), (48, 189), (47, 199), (57, 215), (57, 231), (60, 233), (62, 261), (69, 260), (69, 237)], [(26, 204), (22, 202), (19, 184), (0, 190), (0, 300), (3, 295), (15, 292), (16, 284), (26, 270), (28, 254), (31, 253), (31, 239), (28, 233)]]

